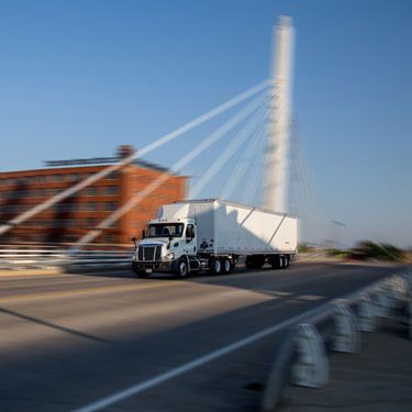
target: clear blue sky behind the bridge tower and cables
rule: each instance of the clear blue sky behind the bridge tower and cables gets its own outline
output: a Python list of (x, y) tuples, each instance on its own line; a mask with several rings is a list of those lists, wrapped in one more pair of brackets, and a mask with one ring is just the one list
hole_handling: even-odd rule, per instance
[[(142, 147), (227, 100), (268, 77), (279, 14), (297, 31), (293, 112), (318, 210), (307, 238), (411, 246), (408, 0), (0, 1), (0, 169)], [(148, 158), (172, 165), (214, 125)]]

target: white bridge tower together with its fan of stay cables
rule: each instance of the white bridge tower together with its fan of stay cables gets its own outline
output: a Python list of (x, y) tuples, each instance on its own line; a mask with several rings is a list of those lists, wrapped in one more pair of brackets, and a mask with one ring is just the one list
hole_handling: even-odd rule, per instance
[[(159, 147), (170, 144), (183, 134), (193, 131), (194, 127), (222, 115), (222, 113), (235, 108), (241, 109), (235, 112), (229, 120), (223, 122), (209, 136), (203, 138), (197, 146), (189, 148), (187, 153), (175, 162), (169, 170), (163, 172), (155, 180), (151, 181), (142, 191), (135, 193), (111, 215), (101, 221), (93, 230), (81, 236), (73, 246), (79, 249), (93, 240), (96, 240), (102, 231), (111, 227), (120, 218), (132, 209), (138, 207), (143, 199), (156, 191), (162, 185), (166, 183), (171, 174), (178, 174), (183, 168), (193, 163), (200, 155), (204, 154), (211, 146), (220, 144), (224, 147), (224, 138), (227, 135), (232, 141), (226, 144), (222, 153), (211, 163), (208, 170), (198, 179), (191, 188), (189, 198), (196, 199), (202, 193), (210, 180), (219, 172), (227, 160), (238, 153), (243, 147), (244, 152), (241, 156), (238, 167), (229, 174), (229, 178), (224, 186), (221, 187), (222, 198), (230, 200), (234, 189), (240, 185), (241, 179), (246, 176), (248, 193), (244, 200), (252, 205), (260, 205), (258, 199), (258, 188), (263, 189), (263, 207), (267, 210), (287, 213), (290, 212), (288, 198), (288, 160), (291, 131), (291, 107), (290, 107), (290, 73), (291, 73), (291, 55), (292, 55), (293, 29), (289, 18), (281, 18), (276, 31), (276, 40), (274, 43), (276, 57), (271, 77), (267, 80), (255, 85), (238, 96), (219, 104), (207, 113), (186, 123), (177, 130), (157, 138), (155, 142), (137, 151), (131, 153), (120, 162), (111, 165), (99, 172), (87, 177), (66, 190), (53, 196), (44, 202), (36, 204), (27, 211), (14, 216), (10, 221), (0, 225), (0, 236), (24, 222), (34, 219), (38, 213), (51, 209), (58, 202), (73, 197), (80, 190), (93, 185), (100, 179), (121, 169), (125, 165), (135, 160), (138, 156), (143, 158), (145, 155), (158, 149)], [(232, 133), (232, 134), (231, 134)], [(234, 134), (234, 136), (233, 136)], [(261, 142), (266, 142), (265, 145)], [(265, 156), (264, 156), (265, 152)], [(253, 153), (253, 162), (257, 168), (250, 168), (246, 158)], [(246, 174), (246, 169), (248, 172)], [(260, 170), (265, 170), (261, 179)], [(254, 171), (254, 172), (253, 172)]]

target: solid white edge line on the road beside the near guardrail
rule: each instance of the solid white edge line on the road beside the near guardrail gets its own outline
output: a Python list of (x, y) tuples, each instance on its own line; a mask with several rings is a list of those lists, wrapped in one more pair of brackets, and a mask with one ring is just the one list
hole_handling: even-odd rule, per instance
[(260, 332), (257, 332), (253, 335), (249, 335), (241, 341), (234, 342), (227, 346), (223, 346), (220, 349), (213, 350), (210, 354), (203, 355), (197, 359), (193, 359), (187, 364), (183, 364), (177, 368), (170, 369), (164, 374), (157, 375), (146, 381), (133, 385), (126, 389), (123, 389), (119, 392), (115, 392), (109, 397), (105, 397), (99, 401), (89, 403), (86, 407), (82, 407), (80, 409), (75, 410), (75, 412), (93, 412), (93, 411), (99, 411), (103, 408), (108, 408), (113, 403), (118, 403), (120, 401), (123, 401), (124, 399), (127, 399), (130, 397), (133, 397), (137, 393), (141, 393), (147, 389), (154, 388), (163, 382), (166, 382), (167, 380), (170, 380), (172, 378), (176, 378), (180, 375), (183, 375), (194, 368), (198, 368), (199, 366), (202, 366), (204, 364), (208, 364), (212, 360), (215, 360), (224, 355), (230, 354), (231, 352), (234, 352), (236, 349), (240, 349), (244, 346), (247, 346), (256, 341), (259, 341), (268, 335), (271, 335), (274, 333), (279, 332), (280, 330), (292, 325), (293, 323), (297, 323), (308, 316), (313, 315), (318, 311), (321, 311), (323, 307), (325, 307), (327, 303), (324, 303), (320, 307), (316, 307), (314, 309), (311, 309), (307, 312), (303, 312), (297, 316), (293, 316), (291, 319), (288, 319), (283, 322), (277, 323), (276, 325), (269, 326), (267, 329), (264, 329)]

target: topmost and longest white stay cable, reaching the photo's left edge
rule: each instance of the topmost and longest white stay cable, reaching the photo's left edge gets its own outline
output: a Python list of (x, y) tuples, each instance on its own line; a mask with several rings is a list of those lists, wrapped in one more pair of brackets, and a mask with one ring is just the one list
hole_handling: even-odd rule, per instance
[(264, 80), (256, 86), (247, 89), (246, 91), (237, 94), (236, 97), (227, 100), (226, 102), (218, 105), (216, 108), (210, 110), (209, 112), (200, 115), (199, 118), (192, 120), (191, 122), (185, 124), (181, 127), (176, 129), (174, 132), (170, 132), (166, 134), (163, 137), (159, 137), (157, 141), (148, 144), (147, 146), (143, 147), (141, 151), (137, 151), (137, 153), (134, 153), (124, 159), (122, 162), (116, 163), (114, 165), (111, 165), (107, 167), (105, 169), (88, 177), (87, 179), (74, 185), (73, 187), (62, 191), (60, 193), (57, 193), (53, 196), (51, 199), (47, 199), (43, 203), (40, 203), (35, 205), (34, 208), (27, 210), (24, 213), (21, 213), (19, 216), (8, 221), (7, 223), (0, 225), (0, 235), (4, 234), (5, 232), (10, 231), (12, 227), (25, 222), (26, 220), (33, 218), (34, 215), (43, 212), (44, 210), (51, 208), (53, 204), (73, 196), (74, 193), (78, 192), (79, 190), (94, 183), (99, 179), (102, 179), (103, 177), (108, 176), (109, 174), (120, 169), (122, 166), (130, 164), (133, 162), (137, 156), (142, 157), (143, 155), (153, 152), (154, 149), (158, 148), (159, 146), (164, 145), (167, 142), (170, 142), (171, 140), (180, 136), (181, 134), (188, 132), (189, 130), (192, 130), (200, 124), (207, 122), (208, 120), (211, 120), (212, 118), (223, 113), (224, 111), (233, 108), (234, 105), (240, 104), (241, 102), (245, 101), (246, 99), (250, 98), (252, 96), (255, 96), (256, 93), (265, 90), (267, 87), (271, 86), (271, 82), (269, 80)]

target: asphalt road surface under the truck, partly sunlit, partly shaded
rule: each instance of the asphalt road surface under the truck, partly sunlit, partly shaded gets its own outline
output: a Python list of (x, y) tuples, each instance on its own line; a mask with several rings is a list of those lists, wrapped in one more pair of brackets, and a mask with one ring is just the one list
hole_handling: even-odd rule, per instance
[(0, 410), (78, 410), (137, 386), (104, 410), (256, 410), (279, 333), (211, 361), (205, 355), (399, 269), (297, 263), (186, 281), (1, 278)]

